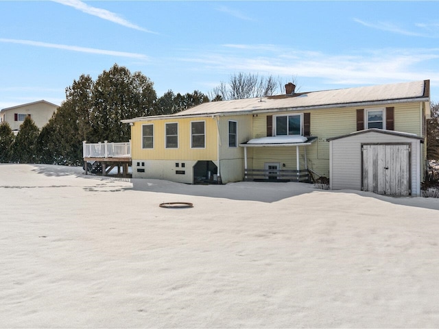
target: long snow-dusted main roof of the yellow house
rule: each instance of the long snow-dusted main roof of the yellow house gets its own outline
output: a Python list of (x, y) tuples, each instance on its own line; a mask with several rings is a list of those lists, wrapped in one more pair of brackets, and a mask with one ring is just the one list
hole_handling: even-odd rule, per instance
[(258, 112), (305, 110), (311, 108), (335, 108), (347, 106), (376, 105), (402, 101), (429, 101), (429, 80), (383, 84), (357, 88), (312, 91), (293, 95), (277, 95), (231, 101), (202, 103), (176, 114), (141, 117), (123, 120), (129, 123), (175, 117), (200, 117), (211, 115), (239, 115)]

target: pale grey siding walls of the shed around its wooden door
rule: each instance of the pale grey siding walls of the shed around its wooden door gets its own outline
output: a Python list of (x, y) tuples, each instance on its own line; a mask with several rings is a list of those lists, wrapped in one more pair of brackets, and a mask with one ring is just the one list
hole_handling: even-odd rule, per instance
[(361, 143), (410, 143), (412, 195), (420, 195), (420, 141), (404, 136), (367, 132), (331, 143), (331, 189), (361, 189)]

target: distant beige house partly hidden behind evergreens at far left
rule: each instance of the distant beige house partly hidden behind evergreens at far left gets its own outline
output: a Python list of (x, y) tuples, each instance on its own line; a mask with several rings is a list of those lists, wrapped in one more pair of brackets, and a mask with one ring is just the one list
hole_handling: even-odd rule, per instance
[(0, 110), (0, 123), (8, 122), (12, 131), (16, 134), (20, 130), (20, 125), (26, 117), (30, 117), (35, 125), (41, 130), (52, 114), (58, 109), (58, 105), (49, 103), (49, 101), (34, 101), (23, 105), (12, 106)]

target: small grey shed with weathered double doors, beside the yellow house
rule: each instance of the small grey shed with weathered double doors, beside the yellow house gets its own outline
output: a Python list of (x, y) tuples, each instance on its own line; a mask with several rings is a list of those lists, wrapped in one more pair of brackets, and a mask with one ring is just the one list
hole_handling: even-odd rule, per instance
[(374, 128), (327, 141), (331, 189), (420, 195), (423, 137)]

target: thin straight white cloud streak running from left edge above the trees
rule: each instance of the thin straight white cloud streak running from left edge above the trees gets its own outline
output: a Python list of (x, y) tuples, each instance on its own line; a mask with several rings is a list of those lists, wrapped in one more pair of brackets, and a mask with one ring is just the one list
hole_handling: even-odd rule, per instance
[(124, 51), (113, 51), (113, 50), (86, 48), (86, 47), (69, 46), (69, 45), (58, 45), (55, 43), (39, 42), (39, 41), (32, 41), (32, 40), (0, 38), (0, 42), (17, 43), (20, 45), (29, 45), (29, 46), (34, 46), (34, 47), (45, 47), (45, 48), (55, 48), (55, 49), (63, 49), (63, 50), (69, 50), (69, 51), (78, 51), (80, 53), (95, 53), (98, 55), (128, 57), (128, 58), (135, 58), (138, 60), (147, 60), (148, 59), (147, 56), (145, 56), (141, 53), (128, 53), (128, 52), (124, 52)]

